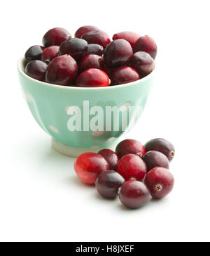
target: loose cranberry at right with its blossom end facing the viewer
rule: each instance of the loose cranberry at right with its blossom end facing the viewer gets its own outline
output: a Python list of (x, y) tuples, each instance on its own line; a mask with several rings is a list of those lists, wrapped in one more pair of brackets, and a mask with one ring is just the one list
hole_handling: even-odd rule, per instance
[(155, 167), (146, 174), (145, 184), (153, 198), (164, 198), (174, 187), (174, 177), (168, 169)]

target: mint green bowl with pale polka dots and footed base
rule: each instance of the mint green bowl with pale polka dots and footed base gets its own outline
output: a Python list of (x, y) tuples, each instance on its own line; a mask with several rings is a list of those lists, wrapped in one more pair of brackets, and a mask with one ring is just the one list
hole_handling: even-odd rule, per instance
[[(153, 71), (136, 82), (115, 87), (78, 88), (40, 82), (27, 76), (24, 69), (22, 58), (18, 62), (18, 74), (32, 115), (41, 128), (52, 137), (52, 147), (59, 153), (73, 157), (87, 151), (97, 152), (101, 148), (116, 146), (120, 137), (139, 120), (151, 91), (155, 73)], [(90, 113), (94, 110), (92, 108), (94, 106), (98, 106), (104, 113), (104, 116), (98, 115), (94, 129), (87, 127), (83, 129), (84, 122), (89, 126), (88, 118), (92, 124), (95, 120), (92, 120), (92, 117), (97, 118), (96, 115), (85, 115), (88, 108), (87, 106), (83, 108), (84, 101), (85, 103), (88, 101)], [(111, 119), (106, 119), (108, 106), (119, 110), (119, 118), (118, 115), (112, 115)], [(80, 108), (81, 124), (73, 130), (71, 127), (75, 123), (72, 120), (76, 118), (78, 108)], [(77, 115), (77, 120), (79, 117), (80, 115)], [(101, 125), (97, 127), (99, 123)], [(81, 128), (80, 126), (82, 130), (78, 129)]]

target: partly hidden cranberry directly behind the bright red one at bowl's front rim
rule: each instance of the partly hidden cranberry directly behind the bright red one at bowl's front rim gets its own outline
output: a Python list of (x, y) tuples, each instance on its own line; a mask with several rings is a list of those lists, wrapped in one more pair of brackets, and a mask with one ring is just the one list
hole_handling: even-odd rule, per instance
[(102, 57), (90, 54), (85, 56), (79, 64), (79, 70), (80, 72), (83, 72), (84, 70), (88, 70), (89, 68), (98, 68), (99, 70), (102, 69)]

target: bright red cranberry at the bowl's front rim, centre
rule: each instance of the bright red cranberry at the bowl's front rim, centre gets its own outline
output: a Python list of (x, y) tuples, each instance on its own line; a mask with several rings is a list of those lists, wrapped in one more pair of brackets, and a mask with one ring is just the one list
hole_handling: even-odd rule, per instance
[(109, 83), (108, 75), (97, 68), (83, 71), (76, 79), (77, 87), (109, 87)]

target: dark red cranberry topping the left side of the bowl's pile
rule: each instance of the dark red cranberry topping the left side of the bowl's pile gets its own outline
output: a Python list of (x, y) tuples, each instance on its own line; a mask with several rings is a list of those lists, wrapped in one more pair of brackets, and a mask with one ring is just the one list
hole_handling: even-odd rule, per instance
[(60, 45), (63, 41), (71, 38), (69, 31), (64, 30), (62, 27), (55, 27), (46, 32), (43, 36), (43, 46), (48, 47), (51, 45)]

